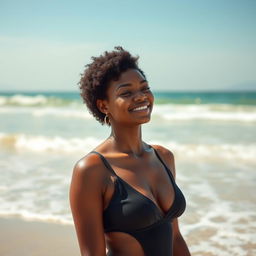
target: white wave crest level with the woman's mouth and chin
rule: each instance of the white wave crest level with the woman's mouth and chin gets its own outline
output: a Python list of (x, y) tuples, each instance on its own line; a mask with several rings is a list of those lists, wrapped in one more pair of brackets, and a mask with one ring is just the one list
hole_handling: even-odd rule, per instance
[[(93, 119), (83, 105), (67, 106), (4, 106), (0, 114), (29, 114), (33, 117), (56, 116), (59, 118)], [(256, 122), (256, 107), (234, 105), (155, 105), (152, 120), (165, 121), (225, 121)]]

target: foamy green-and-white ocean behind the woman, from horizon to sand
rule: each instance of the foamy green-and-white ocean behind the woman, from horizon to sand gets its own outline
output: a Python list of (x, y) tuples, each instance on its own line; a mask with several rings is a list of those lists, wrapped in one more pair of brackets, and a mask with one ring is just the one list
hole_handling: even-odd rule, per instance
[[(256, 255), (256, 92), (154, 95), (143, 139), (174, 153), (192, 255)], [(1, 92), (0, 120), (0, 216), (72, 224), (73, 166), (110, 128), (79, 92)]]

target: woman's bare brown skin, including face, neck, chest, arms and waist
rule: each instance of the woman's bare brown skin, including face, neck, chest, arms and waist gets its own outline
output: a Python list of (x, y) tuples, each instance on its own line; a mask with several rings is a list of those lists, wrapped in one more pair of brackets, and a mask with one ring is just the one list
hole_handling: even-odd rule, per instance
[[(147, 81), (137, 70), (129, 69), (117, 81), (110, 82), (107, 96), (106, 100), (98, 100), (97, 105), (109, 116), (111, 134), (95, 151), (106, 157), (118, 176), (150, 198), (165, 214), (174, 201), (173, 187), (154, 151), (141, 138), (141, 125), (149, 122), (154, 101)], [(132, 111), (145, 105), (146, 110)], [(153, 147), (175, 177), (173, 154), (164, 147)], [(115, 255), (144, 255), (132, 236), (121, 232), (104, 234), (102, 213), (113, 196), (114, 179), (95, 154), (86, 155), (74, 167), (70, 205), (83, 256), (106, 255), (106, 246)], [(173, 255), (189, 256), (178, 220), (174, 219), (172, 225)]]

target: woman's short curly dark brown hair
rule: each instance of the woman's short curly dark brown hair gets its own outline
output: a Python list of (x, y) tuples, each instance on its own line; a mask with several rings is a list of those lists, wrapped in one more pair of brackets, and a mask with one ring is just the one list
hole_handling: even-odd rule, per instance
[(93, 62), (85, 66), (78, 83), (83, 102), (101, 124), (104, 124), (105, 114), (98, 109), (96, 102), (97, 99), (107, 99), (109, 82), (118, 80), (120, 75), (130, 68), (137, 69), (146, 78), (138, 67), (138, 56), (132, 56), (121, 46), (114, 49), (111, 52), (105, 51), (99, 57), (92, 57)]

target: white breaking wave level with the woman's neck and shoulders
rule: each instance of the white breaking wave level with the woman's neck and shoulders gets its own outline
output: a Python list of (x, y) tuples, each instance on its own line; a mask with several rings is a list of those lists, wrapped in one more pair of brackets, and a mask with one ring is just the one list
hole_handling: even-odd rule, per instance
[[(0, 134), (0, 147), (33, 152), (85, 152), (93, 149), (100, 140), (95, 137), (64, 138), (29, 136), (25, 134)], [(175, 141), (150, 141), (175, 152), (179, 158), (197, 159), (240, 159), (256, 162), (256, 144), (181, 144)]]

